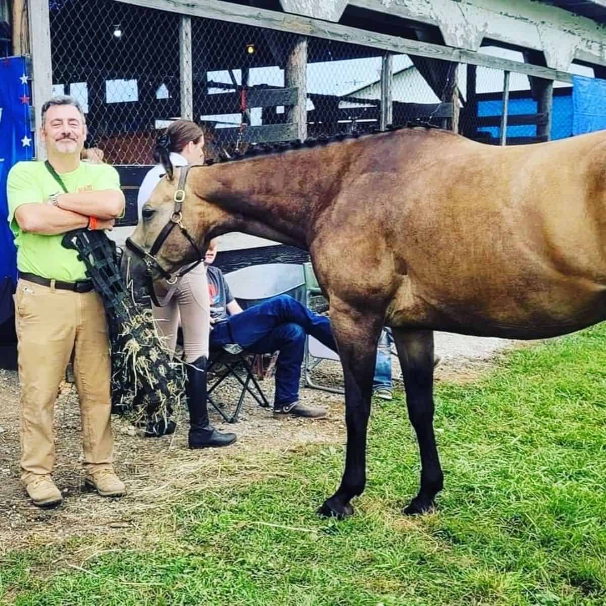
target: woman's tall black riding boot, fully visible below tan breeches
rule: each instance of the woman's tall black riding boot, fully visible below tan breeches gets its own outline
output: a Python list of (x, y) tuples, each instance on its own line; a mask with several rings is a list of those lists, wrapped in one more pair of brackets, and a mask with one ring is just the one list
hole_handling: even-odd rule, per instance
[(235, 433), (221, 433), (208, 422), (206, 391), (206, 358), (200, 356), (187, 365), (187, 408), (190, 413), (190, 448), (229, 446), (236, 441)]

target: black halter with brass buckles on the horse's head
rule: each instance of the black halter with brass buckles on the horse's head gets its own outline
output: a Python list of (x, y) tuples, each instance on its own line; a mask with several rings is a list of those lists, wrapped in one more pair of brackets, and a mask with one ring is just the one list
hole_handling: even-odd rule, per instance
[[(175, 190), (175, 195), (173, 195), (173, 200), (175, 201), (175, 208), (173, 209), (173, 213), (170, 216), (170, 221), (168, 221), (168, 223), (164, 225), (162, 231), (158, 234), (158, 238), (156, 238), (155, 242), (151, 245), (149, 252), (141, 248), (138, 244), (135, 244), (132, 239), (126, 239), (126, 247), (129, 250), (132, 250), (133, 253), (135, 253), (135, 255), (138, 256), (139, 259), (141, 259), (145, 263), (145, 285), (147, 286), (147, 290), (149, 292), (151, 300), (158, 307), (162, 307), (162, 305), (158, 301), (158, 297), (156, 296), (156, 292), (153, 288), (153, 270), (158, 271), (162, 278), (167, 281), (167, 284), (173, 285), (188, 271), (193, 270), (194, 267), (204, 261), (204, 255), (202, 255), (202, 251), (198, 248), (198, 245), (196, 244), (194, 239), (191, 238), (187, 229), (185, 229), (182, 223), (183, 217), (181, 214), (181, 207), (183, 202), (185, 201), (185, 179), (187, 179), (187, 173), (189, 172), (190, 168), (190, 165), (186, 165), (181, 168), (181, 173), (179, 173), (179, 184), (177, 185), (177, 188)], [(184, 267), (182, 270), (178, 271), (173, 275), (171, 273), (168, 273), (168, 271), (166, 271), (164, 267), (159, 264), (158, 259), (156, 259), (156, 254), (158, 253), (160, 248), (162, 248), (162, 244), (164, 244), (164, 241), (168, 238), (168, 235), (170, 235), (170, 232), (173, 230), (173, 227), (175, 227), (175, 225), (179, 226), (181, 233), (185, 236), (185, 238), (187, 238), (193, 249), (196, 251), (198, 260), (195, 263)]]

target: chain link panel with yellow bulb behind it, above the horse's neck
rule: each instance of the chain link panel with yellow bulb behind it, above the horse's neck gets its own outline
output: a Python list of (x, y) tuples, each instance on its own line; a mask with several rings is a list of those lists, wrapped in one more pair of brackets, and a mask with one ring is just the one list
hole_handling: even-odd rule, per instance
[[(298, 137), (285, 59), (297, 36), (250, 25), (194, 19), (193, 105), (213, 151)], [(301, 90), (305, 95), (305, 90)]]

